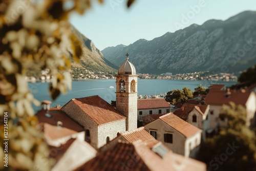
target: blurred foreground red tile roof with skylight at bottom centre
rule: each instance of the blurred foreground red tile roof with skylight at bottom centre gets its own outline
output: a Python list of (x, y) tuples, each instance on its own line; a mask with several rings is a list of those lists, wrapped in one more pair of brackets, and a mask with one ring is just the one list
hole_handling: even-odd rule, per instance
[[(165, 149), (164, 146), (160, 148), (161, 153), (166, 153), (164, 156), (153, 152), (140, 140), (133, 143), (119, 141), (115, 146), (106, 149), (106, 151), (99, 152), (95, 158), (84, 163), (75, 169), (75, 171), (178, 171), (181, 168), (182, 170), (191, 171), (206, 170), (205, 163), (174, 154), (168, 151), (168, 149)], [(156, 151), (159, 152), (157, 147)]]

